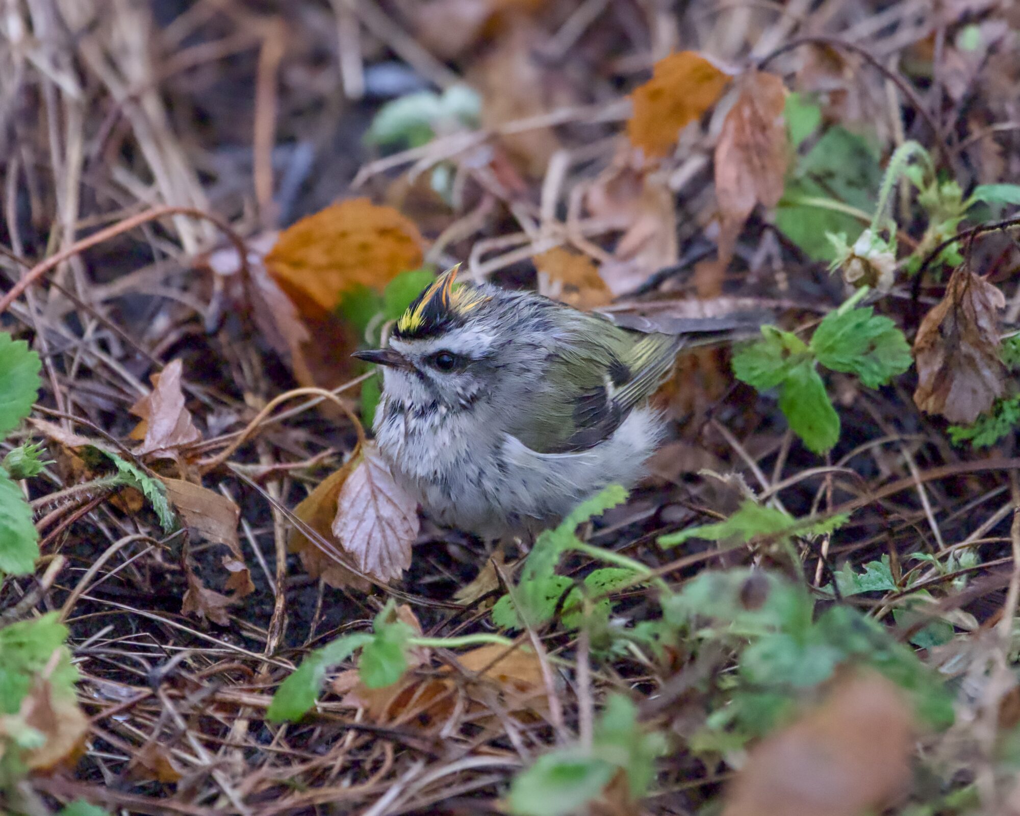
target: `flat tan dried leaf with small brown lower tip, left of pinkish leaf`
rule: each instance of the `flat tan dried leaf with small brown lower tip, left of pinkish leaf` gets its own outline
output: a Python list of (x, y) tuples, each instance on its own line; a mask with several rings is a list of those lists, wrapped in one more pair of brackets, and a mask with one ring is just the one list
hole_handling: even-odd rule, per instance
[(231, 573), (226, 589), (236, 592), (235, 598), (243, 598), (255, 591), (251, 572), (245, 565), (241, 541), (238, 538), (238, 522), (241, 508), (225, 496), (221, 496), (201, 484), (193, 484), (180, 478), (163, 478), (166, 498), (181, 514), (185, 526), (198, 532), (206, 541), (224, 545), (230, 556), (223, 557), (223, 566)]

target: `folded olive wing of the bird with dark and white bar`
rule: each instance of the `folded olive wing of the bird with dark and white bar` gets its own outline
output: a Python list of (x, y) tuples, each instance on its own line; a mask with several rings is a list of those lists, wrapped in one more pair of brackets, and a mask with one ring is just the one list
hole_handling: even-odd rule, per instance
[(549, 362), (541, 411), (514, 434), (537, 453), (577, 453), (607, 439), (669, 373), (681, 341), (615, 326), (606, 342), (564, 344)]

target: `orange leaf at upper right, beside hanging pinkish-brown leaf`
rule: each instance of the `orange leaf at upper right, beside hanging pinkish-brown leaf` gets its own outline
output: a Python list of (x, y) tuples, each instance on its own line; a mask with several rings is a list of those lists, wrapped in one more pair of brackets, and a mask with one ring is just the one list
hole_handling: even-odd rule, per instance
[(652, 79), (634, 89), (627, 137), (649, 157), (664, 156), (680, 130), (699, 119), (722, 95), (729, 76), (695, 51), (660, 59)]

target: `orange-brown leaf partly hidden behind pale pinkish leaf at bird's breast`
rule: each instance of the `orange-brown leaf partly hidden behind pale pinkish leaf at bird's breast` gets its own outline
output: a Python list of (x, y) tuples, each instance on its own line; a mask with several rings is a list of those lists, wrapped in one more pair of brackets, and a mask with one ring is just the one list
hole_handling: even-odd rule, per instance
[[(333, 534), (333, 521), (337, 517), (337, 498), (355, 464), (357, 464), (356, 457), (352, 457), (342, 468), (322, 479), (315, 490), (294, 508), (294, 515), (338, 550), (343, 550), (344, 545)], [(368, 581), (351, 572), (327, 553), (323, 553), (299, 527), (291, 528), (287, 549), (298, 554), (305, 570), (313, 578), (322, 578), (330, 586), (338, 589), (351, 586), (361, 592), (368, 592), (370, 586)]]

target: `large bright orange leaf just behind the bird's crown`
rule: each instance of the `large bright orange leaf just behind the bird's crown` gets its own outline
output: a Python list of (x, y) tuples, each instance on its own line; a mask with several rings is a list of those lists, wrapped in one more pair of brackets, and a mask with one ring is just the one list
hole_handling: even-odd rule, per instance
[(265, 265), (299, 311), (321, 317), (353, 287), (381, 291), (420, 266), (422, 244), (418, 228), (397, 210), (356, 198), (285, 230)]

